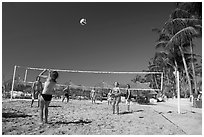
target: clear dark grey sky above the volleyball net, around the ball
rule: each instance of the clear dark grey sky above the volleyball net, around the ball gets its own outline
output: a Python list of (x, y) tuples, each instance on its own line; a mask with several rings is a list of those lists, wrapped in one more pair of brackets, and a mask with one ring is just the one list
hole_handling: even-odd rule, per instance
[[(156, 51), (158, 35), (152, 28), (161, 28), (174, 9), (171, 2), (4, 2), (3, 80), (12, 78), (14, 65), (145, 70)], [(79, 23), (81, 18), (86, 25)], [(201, 55), (201, 40), (197, 43)], [(61, 76), (59, 83), (64, 81)]]

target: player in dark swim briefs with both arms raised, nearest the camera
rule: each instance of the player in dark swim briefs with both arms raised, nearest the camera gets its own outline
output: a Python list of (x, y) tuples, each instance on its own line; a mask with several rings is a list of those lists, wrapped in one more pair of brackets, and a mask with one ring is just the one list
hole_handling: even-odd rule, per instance
[(43, 113), (45, 115), (45, 123), (48, 123), (48, 106), (52, 100), (52, 95), (55, 94), (54, 88), (57, 84), (56, 79), (59, 74), (57, 71), (49, 71), (48, 76), (43, 74), (47, 70), (42, 71), (39, 77), (46, 78), (42, 94), (40, 96), (40, 122), (43, 123)]

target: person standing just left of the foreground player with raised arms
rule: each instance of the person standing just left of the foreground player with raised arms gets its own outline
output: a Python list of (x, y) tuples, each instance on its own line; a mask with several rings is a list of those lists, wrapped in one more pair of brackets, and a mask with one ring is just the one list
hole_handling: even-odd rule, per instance
[(38, 107), (39, 107), (39, 95), (42, 93), (43, 86), (42, 82), (40, 81), (40, 77), (36, 77), (36, 81), (33, 83), (32, 86), (32, 101), (31, 101), (31, 107), (33, 107), (33, 102), (35, 99), (38, 99)]

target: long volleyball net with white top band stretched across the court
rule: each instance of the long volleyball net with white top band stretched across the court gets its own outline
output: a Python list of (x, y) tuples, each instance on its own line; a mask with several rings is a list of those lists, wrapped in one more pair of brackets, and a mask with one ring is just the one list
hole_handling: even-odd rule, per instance
[[(56, 90), (62, 91), (69, 85), (73, 96), (88, 98), (93, 88), (101, 96), (107, 96), (116, 81), (120, 84), (119, 87), (123, 92), (125, 92), (127, 84), (133, 91), (158, 92), (163, 89), (162, 72), (87, 71), (14, 66), (10, 98), (15, 98), (16, 92), (21, 92), (22, 95), (30, 95), (31, 86), (36, 81), (36, 77), (45, 69), (59, 73)], [(44, 83), (45, 80), (41, 79), (41, 82)]]

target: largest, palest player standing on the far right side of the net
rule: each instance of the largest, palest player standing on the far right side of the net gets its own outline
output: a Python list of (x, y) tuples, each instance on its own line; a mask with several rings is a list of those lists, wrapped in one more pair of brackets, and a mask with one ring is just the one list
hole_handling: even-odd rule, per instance
[(115, 87), (113, 88), (113, 114), (115, 114), (115, 108), (116, 108), (116, 114), (119, 115), (119, 103), (121, 102), (121, 91), (119, 88), (119, 83), (115, 82), (114, 83)]

